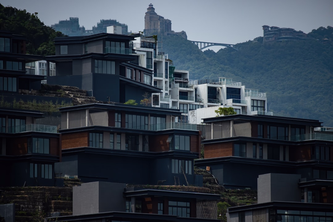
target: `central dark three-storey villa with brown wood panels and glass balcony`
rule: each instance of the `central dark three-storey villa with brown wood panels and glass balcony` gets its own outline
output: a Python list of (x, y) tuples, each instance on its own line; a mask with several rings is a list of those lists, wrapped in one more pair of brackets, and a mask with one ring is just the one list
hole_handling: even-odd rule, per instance
[(200, 131), (175, 122), (180, 111), (124, 104), (60, 108), (62, 162), (57, 173), (83, 182), (202, 185), (194, 175)]

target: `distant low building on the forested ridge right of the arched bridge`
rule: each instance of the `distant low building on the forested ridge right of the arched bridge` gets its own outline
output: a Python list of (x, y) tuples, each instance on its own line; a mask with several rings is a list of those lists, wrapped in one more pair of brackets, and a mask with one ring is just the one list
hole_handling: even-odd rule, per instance
[(279, 28), (276, 26), (263, 25), (262, 30), (264, 31), (264, 43), (274, 41), (290, 41), (305, 39), (306, 33), (302, 31), (296, 31), (292, 28)]

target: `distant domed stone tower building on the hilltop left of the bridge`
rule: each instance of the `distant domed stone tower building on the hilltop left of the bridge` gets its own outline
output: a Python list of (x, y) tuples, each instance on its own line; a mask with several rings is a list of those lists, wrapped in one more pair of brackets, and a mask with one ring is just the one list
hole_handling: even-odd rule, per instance
[(165, 19), (163, 16), (155, 12), (155, 8), (151, 3), (145, 14), (145, 35), (168, 34), (171, 33), (171, 20)]

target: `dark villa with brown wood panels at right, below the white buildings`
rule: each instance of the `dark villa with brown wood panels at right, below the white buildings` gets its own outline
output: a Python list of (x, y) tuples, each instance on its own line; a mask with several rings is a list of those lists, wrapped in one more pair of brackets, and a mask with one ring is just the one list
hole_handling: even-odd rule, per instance
[(195, 161), (226, 188), (256, 189), (266, 173), (333, 179), (333, 134), (321, 122), (268, 115), (228, 115), (203, 119), (204, 159)]

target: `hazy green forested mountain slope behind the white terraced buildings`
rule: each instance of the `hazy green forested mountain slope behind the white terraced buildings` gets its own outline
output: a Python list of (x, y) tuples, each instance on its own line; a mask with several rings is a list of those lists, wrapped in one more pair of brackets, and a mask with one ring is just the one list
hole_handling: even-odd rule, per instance
[[(239, 43), (242, 50), (201, 52), (179, 36), (163, 37), (163, 51), (190, 79), (233, 78), (267, 93), (274, 115), (319, 119), (333, 127), (333, 28), (320, 27), (312, 39), (262, 44), (262, 37)], [(159, 38), (160, 39), (160, 38)], [(324, 40), (325, 39), (325, 40)]]

